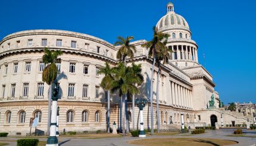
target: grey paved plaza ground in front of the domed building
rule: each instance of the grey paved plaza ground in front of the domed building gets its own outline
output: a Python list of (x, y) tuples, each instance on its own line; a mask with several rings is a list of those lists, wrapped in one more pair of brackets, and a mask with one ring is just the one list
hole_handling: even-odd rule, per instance
[[(220, 130), (207, 130), (205, 134), (198, 134), (198, 135), (191, 135), (191, 134), (177, 134), (177, 135), (166, 135), (166, 136), (148, 136), (146, 138), (216, 138), (216, 139), (229, 139), (232, 141), (238, 141), (238, 145), (256, 145), (256, 138), (249, 138), (249, 137), (229, 137), (227, 135), (233, 134), (235, 129), (220, 129)], [(248, 131), (243, 129), (245, 132), (244, 135), (246, 136), (256, 136), (256, 131)], [(16, 145), (14, 140), (19, 139), (17, 137), (8, 137), (8, 138), (0, 138), (0, 141), (13, 141), (8, 142), (10, 145)], [(76, 138), (76, 137), (60, 137), (59, 141), (61, 143), (59, 145), (98, 145), (98, 146), (105, 146), (105, 145), (132, 145), (128, 144), (127, 141), (141, 139), (135, 137), (122, 137), (122, 138), (92, 138), (92, 139), (85, 139), (85, 138)], [(46, 138), (39, 138), (40, 141), (46, 141)]]

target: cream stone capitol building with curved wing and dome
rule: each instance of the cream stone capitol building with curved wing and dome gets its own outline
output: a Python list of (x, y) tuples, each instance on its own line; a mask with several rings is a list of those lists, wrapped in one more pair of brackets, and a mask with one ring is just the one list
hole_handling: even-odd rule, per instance
[[(168, 3), (167, 14), (157, 23), (158, 31), (170, 34), (167, 46), (173, 50), (171, 61), (162, 65), (160, 82), (160, 123), (162, 129), (180, 127), (180, 114), (186, 115), (187, 126), (246, 123), (249, 116), (218, 109), (219, 96), (214, 90), (213, 76), (198, 63), (198, 45), (192, 40), (185, 18), (174, 12)], [(132, 42), (137, 49), (128, 60), (142, 64), (144, 83), (141, 94), (149, 97), (152, 59), (148, 50), (141, 47), (146, 40)], [(42, 82), (43, 49), (63, 50), (58, 82), (61, 87), (60, 132), (96, 131), (106, 129), (107, 102), (99, 87), (102, 75), (98, 69), (105, 62), (116, 65), (118, 47), (88, 34), (63, 30), (27, 30), (10, 34), (0, 42), (0, 132), (10, 135), (29, 133), (30, 118), (39, 117), (38, 129), (46, 131), (48, 118), (48, 88)], [(156, 90), (157, 68), (154, 74)], [(216, 109), (207, 109), (211, 96)], [(155, 108), (154, 95), (154, 110)], [(119, 126), (120, 98), (111, 95), (110, 122)], [(135, 107), (136, 127), (138, 107)], [(144, 122), (150, 127), (149, 107), (145, 107)], [(129, 115), (132, 106), (129, 103)], [(154, 111), (155, 113), (155, 111)], [(132, 125), (130, 116), (130, 125)], [(154, 125), (156, 117), (154, 115)], [(155, 125), (156, 126), (156, 125)], [(132, 126), (130, 126), (132, 127)]]

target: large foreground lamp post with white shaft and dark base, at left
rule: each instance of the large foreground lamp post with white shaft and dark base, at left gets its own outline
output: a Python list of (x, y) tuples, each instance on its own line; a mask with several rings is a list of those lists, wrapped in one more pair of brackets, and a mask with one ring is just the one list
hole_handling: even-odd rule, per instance
[(52, 112), (51, 112), (50, 136), (47, 138), (46, 146), (58, 145), (58, 138), (56, 137), (58, 88), (59, 88), (58, 82), (55, 78), (54, 82), (52, 83)]

